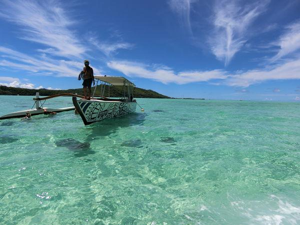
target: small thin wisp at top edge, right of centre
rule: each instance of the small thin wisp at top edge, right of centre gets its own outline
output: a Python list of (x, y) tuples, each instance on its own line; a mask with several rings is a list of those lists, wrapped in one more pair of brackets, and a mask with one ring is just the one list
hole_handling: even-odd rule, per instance
[(191, 34), (192, 29), (190, 25), (190, 3), (196, 0), (169, 0), (169, 6), (173, 12), (179, 16), (179, 22)]

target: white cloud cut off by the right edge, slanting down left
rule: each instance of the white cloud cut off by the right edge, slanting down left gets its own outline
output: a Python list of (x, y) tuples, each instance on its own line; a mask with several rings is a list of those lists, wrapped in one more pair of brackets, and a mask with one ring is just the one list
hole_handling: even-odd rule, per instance
[(280, 46), (279, 51), (271, 58), (271, 61), (278, 60), (292, 52), (300, 49), (300, 20), (286, 27), (286, 31), (280, 36), (275, 44)]

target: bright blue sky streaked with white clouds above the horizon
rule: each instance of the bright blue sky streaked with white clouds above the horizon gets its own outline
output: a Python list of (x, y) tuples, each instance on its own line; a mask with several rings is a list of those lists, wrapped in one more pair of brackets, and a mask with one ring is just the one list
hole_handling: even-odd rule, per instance
[(300, 0), (0, 0), (0, 85), (124, 76), (171, 97), (300, 102)]

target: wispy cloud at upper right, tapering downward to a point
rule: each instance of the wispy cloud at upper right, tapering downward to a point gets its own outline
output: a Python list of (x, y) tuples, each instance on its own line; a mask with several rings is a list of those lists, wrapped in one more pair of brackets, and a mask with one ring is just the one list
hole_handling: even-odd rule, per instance
[(216, 1), (213, 15), (213, 34), (209, 39), (211, 51), (227, 65), (249, 38), (249, 26), (265, 10), (269, 0), (248, 4), (237, 0)]

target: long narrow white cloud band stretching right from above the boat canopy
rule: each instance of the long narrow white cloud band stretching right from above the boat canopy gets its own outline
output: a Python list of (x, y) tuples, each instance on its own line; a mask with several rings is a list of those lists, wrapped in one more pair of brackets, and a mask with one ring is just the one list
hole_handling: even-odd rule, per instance
[(225, 79), (224, 71), (220, 69), (210, 71), (182, 71), (175, 73), (165, 66), (153, 68), (144, 64), (129, 61), (110, 61), (107, 66), (124, 73), (127, 76), (143, 77), (162, 83), (190, 83), (208, 81), (210, 79)]

